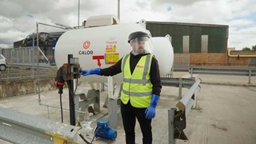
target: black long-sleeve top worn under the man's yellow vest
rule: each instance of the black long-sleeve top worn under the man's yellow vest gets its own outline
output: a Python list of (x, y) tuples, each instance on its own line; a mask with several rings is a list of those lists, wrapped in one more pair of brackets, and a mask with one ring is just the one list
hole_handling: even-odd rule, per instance
[[(149, 54), (149, 53), (148, 53)], [(130, 53), (130, 74), (133, 74), (135, 66), (142, 56), (147, 54), (138, 54), (134, 55)], [(101, 69), (101, 73), (104, 76), (113, 76), (115, 74), (119, 74), (122, 72), (122, 58), (113, 66), (107, 67), (105, 69)], [(156, 58), (152, 58), (151, 68), (150, 68), (150, 82), (152, 83), (152, 93), (160, 96), (162, 85), (160, 79), (160, 72), (158, 66), (158, 60)]]

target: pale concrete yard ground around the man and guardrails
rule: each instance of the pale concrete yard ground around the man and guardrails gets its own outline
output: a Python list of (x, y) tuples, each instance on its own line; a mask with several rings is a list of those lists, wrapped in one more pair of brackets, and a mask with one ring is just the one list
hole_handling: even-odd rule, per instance
[[(189, 75), (187, 72), (174, 72), (174, 78)], [(256, 78), (245, 76), (194, 75), (202, 79), (201, 91), (198, 94), (199, 110), (190, 110), (186, 118), (185, 134), (189, 140), (176, 140), (178, 144), (254, 144), (256, 143)], [(88, 90), (88, 87), (86, 87)], [(183, 88), (182, 94), (187, 89)], [(43, 104), (59, 106), (58, 90), (41, 93)], [(161, 98), (157, 107), (157, 116), (152, 121), (155, 144), (168, 143), (168, 110), (178, 102), (178, 88), (163, 86)], [(105, 102), (106, 91), (101, 93), (101, 105)], [(63, 108), (68, 109), (68, 90), (62, 95)], [(60, 110), (38, 105), (38, 94), (28, 94), (14, 98), (0, 99), (0, 106), (26, 114), (37, 115), (61, 121)], [(101, 113), (91, 118), (99, 118), (106, 114), (106, 108), (101, 106)], [(104, 117), (106, 118), (106, 117)], [(69, 112), (64, 110), (64, 123), (69, 124)], [(92, 125), (95, 126), (95, 123)], [(125, 133), (122, 122), (118, 124), (116, 141), (96, 139), (93, 143), (125, 143)], [(135, 128), (136, 142), (142, 144), (142, 134), (138, 122)], [(90, 141), (90, 138), (87, 138)], [(0, 143), (9, 143), (0, 140)], [(78, 143), (82, 142), (78, 138)]]

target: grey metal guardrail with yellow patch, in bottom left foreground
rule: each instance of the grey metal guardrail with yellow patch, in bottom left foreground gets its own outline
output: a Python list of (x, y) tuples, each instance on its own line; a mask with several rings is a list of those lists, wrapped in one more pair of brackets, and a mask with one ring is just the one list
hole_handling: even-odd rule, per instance
[(12, 143), (70, 143), (80, 127), (0, 107), (0, 138)]

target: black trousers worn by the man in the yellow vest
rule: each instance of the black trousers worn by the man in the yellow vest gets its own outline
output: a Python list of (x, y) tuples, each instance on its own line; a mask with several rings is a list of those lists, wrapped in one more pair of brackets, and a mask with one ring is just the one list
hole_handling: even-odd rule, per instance
[(146, 108), (135, 108), (130, 101), (125, 105), (121, 102), (122, 123), (126, 132), (126, 144), (135, 144), (135, 124), (138, 119), (142, 130), (143, 144), (152, 143), (151, 119), (146, 119)]

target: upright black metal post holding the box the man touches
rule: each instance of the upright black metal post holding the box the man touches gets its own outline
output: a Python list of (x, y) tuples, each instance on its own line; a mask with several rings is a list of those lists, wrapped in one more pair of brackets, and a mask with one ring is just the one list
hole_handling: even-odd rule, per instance
[[(73, 58), (73, 54), (68, 54), (68, 64), (70, 64), (70, 59)], [(71, 66), (71, 80), (67, 80), (69, 85), (69, 98), (70, 98), (70, 125), (75, 126), (75, 109), (74, 109), (74, 77), (72, 77), (73, 66)]]

